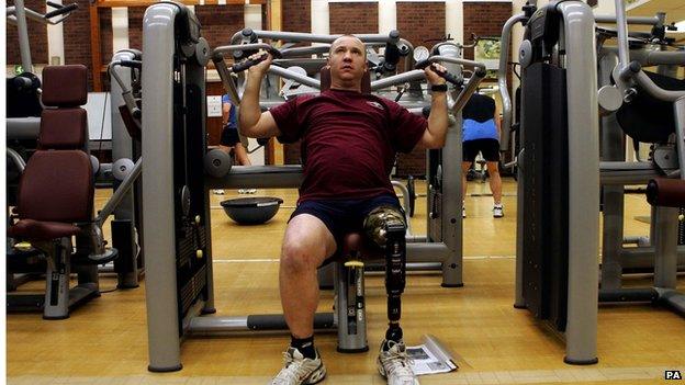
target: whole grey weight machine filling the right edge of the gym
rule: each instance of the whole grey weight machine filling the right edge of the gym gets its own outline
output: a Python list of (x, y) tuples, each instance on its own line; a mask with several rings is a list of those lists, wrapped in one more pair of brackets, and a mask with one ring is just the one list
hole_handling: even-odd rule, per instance
[[(603, 263), (603, 286), (598, 290), (599, 186), (605, 185), (607, 194), (607, 186), (645, 182), (654, 175), (651, 167), (599, 162), (598, 106), (606, 110), (606, 117), (607, 112), (616, 111), (636, 92), (672, 103), (680, 165), (676, 168), (680, 168), (682, 179), (685, 95), (682, 90), (660, 88), (637, 61), (629, 63), (633, 53), (628, 53), (622, 1), (616, 1), (618, 58), (611, 66), (615, 84), (607, 86), (611, 88), (608, 91), (605, 88), (598, 91), (596, 71), (587, 70), (597, 67), (595, 16), (587, 4), (562, 0), (525, 11), (509, 19), (503, 33), (503, 42), (508, 43), (512, 25), (517, 22), (526, 25), (519, 48), (523, 105), (514, 306), (528, 308), (536, 318), (548, 320), (563, 333), (564, 362), (594, 364), (597, 362), (599, 302), (652, 301), (680, 314), (685, 308), (684, 296), (674, 290), (676, 234), (669, 230), (675, 226), (665, 222), (658, 225), (664, 231), (655, 241), (659, 245), (654, 264), (658, 287), (609, 287), (613, 284), (604, 280)], [(680, 58), (678, 63), (682, 63), (682, 56), (677, 54), (654, 57)], [(600, 64), (599, 68), (603, 69), (604, 65)], [(501, 83), (506, 84), (503, 71), (506, 63), (501, 61), (499, 68)], [(600, 75), (606, 72), (603, 70)], [(506, 88), (501, 88), (501, 92), (506, 93)], [(510, 101), (508, 95), (505, 97), (504, 132), (512, 121)], [(675, 175), (677, 172), (671, 177)], [(673, 210), (663, 207), (682, 205), (683, 191), (682, 180), (653, 180), (648, 185), (648, 201), (661, 206), (659, 210)], [(609, 203), (615, 204), (605, 201), (605, 216)], [(671, 220), (675, 217), (671, 215)], [(606, 248), (603, 252), (607, 252)]]

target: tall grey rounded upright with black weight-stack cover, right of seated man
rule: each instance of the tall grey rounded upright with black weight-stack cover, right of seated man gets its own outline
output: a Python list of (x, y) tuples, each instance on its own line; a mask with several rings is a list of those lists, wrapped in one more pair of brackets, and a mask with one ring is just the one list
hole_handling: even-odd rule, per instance
[[(515, 19), (516, 20), (516, 19)], [(597, 362), (599, 143), (594, 16), (560, 1), (520, 47), (516, 307), (564, 332), (572, 364)], [(548, 148), (549, 147), (549, 148)]]

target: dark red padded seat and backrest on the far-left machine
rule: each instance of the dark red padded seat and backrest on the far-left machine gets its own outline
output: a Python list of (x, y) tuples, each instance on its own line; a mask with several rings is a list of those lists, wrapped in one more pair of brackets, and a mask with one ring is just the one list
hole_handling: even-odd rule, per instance
[(94, 182), (87, 150), (88, 116), (79, 105), (88, 99), (88, 70), (82, 65), (43, 70), (38, 149), (19, 182), (19, 222), (8, 228), (14, 238), (49, 240), (79, 233), (77, 223), (92, 220)]

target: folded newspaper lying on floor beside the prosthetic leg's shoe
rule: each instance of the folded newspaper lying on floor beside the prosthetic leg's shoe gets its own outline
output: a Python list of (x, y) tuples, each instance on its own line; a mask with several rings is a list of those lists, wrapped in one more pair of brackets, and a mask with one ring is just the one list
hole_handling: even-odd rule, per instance
[(459, 367), (449, 350), (435, 336), (425, 335), (422, 340), (424, 343), (406, 348), (414, 374), (447, 373)]

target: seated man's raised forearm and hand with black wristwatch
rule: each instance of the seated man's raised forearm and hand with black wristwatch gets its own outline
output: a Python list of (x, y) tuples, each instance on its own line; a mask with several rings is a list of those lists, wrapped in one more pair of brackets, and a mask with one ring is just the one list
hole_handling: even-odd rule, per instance
[[(440, 65), (438, 69), (447, 70)], [(445, 79), (433, 71), (431, 66), (426, 67), (426, 79), (428, 86), (445, 84)], [(430, 98), (430, 115), (428, 115), (428, 126), (424, 132), (424, 135), (418, 140), (417, 147), (425, 149), (437, 149), (445, 146), (445, 138), (447, 136), (447, 92), (433, 92)]]

